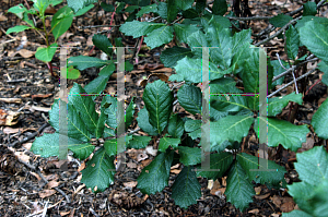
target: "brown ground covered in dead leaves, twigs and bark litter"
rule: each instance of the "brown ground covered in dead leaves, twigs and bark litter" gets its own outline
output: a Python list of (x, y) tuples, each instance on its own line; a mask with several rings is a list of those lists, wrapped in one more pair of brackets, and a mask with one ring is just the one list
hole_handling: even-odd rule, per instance
[[(13, 37), (7, 36), (3, 31), (20, 24), (20, 20), (12, 14), (5, 14), (7, 10), (21, 3), (21, 1), (3, 0), (0, 8), (0, 98), (10, 98), (13, 101), (8, 103), (0, 100), (0, 109), (5, 111), (20, 111), (17, 123), (12, 125), (0, 126), (0, 216), (28, 216), (44, 215), (47, 216), (280, 216), (282, 212), (291, 212), (296, 208), (292, 197), (282, 190), (269, 190), (263, 185), (256, 188), (258, 193), (254, 203), (249, 204), (244, 213), (241, 213), (230, 203), (226, 203), (224, 195), (221, 194), (225, 190), (225, 179), (220, 179), (213, 183), (212, 188), (208, 188), (211, 183), (207, 179), (199, 178), (202, 186), (202, 196), (196, 205), (191, 205), (184, 210), (174, 204), (171, 198), (169, 188), (165, 188), (162, 193), (155, 195), (143, 195), (136, 188), (137, 178), (141, 169), (148, 165), (153, 156), (152, 152), (129, 150), (128, 168), (122, 172), (116, 173), (116, 182), (105, 192), (94, 195), (83, 184), (80, 183), (81, 170), (85, 166), (84, 161), (72, 160), (69, 164), (69, 171), (56, 170), (60, 167), (56, 158), (40, 158), (28, 152), (35, 138), (33, 133), (38, 132), (36, 136), (44, 133), (51, 133), (54, 129), (47, 123), (48, 110), (58, 98), (59, 82), (50, 75), (47, 67), (34, 58), (34, 51), (44, 41), (34, 32), (27, 31), (20, 33)], [(281, 12), (293, 11), (301, 4), (286, 1), (250, 1), (250, 10), (256, 15), (276, 15)], [(69, 33), (61, 38), (60, 43), (74, 43), (73, 48), (69, 50), (69, 56), (89, 55), (99, 57), (101, 51), (92, 50), (91, 38), (97, 32), (97, 28), (79, 29), (78, 26), (108, 24), (110, 13), (98, 12), (93, 9), (83, 17), (74, 20)], [(7, 20), (5, 20), (7, 19)], [(116, 19), (115, 24), (122, 22)], [(259, 32), (268, 24), (266, 22), (250, 23), (253, 29)], [(104, 28), (102, 28), (104, 29)], [(98, 29), (98, 31), (102, 31)], [(13, 35), (13, 34), (12, 34)], [(27, 37), (27, 43), (23, 49), (17, 50), (22, 45), (23, 36)], [(133, 43), (133, 40), (132, 40)], [(129, 44), (127, 44), (129, 45)], [(281, 58), (284, 58), (283, 45), (279, 40), (272, 40), (272, 46), (278, 45), (278, 49), (269, 49), (272, 59), (272, 52), (279, 51)], [(130, 44), (129, 46), (133, 46)], [(171, 69), (161, 64), (159, 55), (163, 49), (141, 50), (139, 64), (134, 65), (134, 70), (127, 73), (126, 95), (128, 101), (132, 96), (137, 97), (137, 108), (142, 108), (141, 96), (143, 87), (139, 82), (143, 76), (148, 76), (154, 72), (165, 73), (169, 75)], [(128, 56), (131, 53), (127, 53)], [(58, 73), (59, 53), (54, 59), (55, 73)], [(97, 70), (91, 69), (82, 72), (80, 79), (69, 81), (70, 88), (73, 82), (81, 85), (87, 84), (97, 76)], [(291, 77), (286, 77), (286, 81)], [(314, 84), (318, 76), (312, 76), (308, 86)], [(115, 92), (115, 75), (108, 82), (107, 93)], [(286, 91), (289, 92), (289, 89)], [(283, 93), (285, 94), (285, 92)], [(295, 122), (308, 123), (313, 113), (318, 106), (327, 98), (327, 87), (325, 85), (316, 85), (306, 96), (304, 107), (296, 114)], [(99, 101), (99, 100), (98, 100)], [(177, 108), (178, 109), (178, 108)], [(289, 109), (281, 114), (286, 119)], [(13, 121), (14, 122), (14, 121)], [(40, 128), (44, 126), (42, 130)], [(137, 129), (134, 124), (133, 129)], [(142, 134), (141, 131), (138, 132)], [(22, 144), (22, 141), (31, 136), (32, 140)], [(314, 145), (321, 144), (316, 136), (308, 134), (308, 141), (304, 144), (305, 149), (309, 149)], [(256, 154), (257, 140), (255, 133), (250, 132), (244, 140), (245, 152)], [(154, 145), (154, 148), (156, 146)], [(285, 176), (288, 183), (297, 181), (297, 174), (293, 168), (295, 154), (282, 148), (270, 150), (270, 159), (285, 166), (288, 173)], [(16, 155), (16, 156), (14, 156)], [(49, 181), (45, 184), (40, 176), (33, 169), (24, 166), (17, 160), (28, 161), (30, 165), (39, 168), (40, 173)], [(5, 162), (5, 164), (4, 164)], [(55, 171), (54, 171), (55, 169)], [(169, 186), (177, 176), (180, 167), (172, 168)], [(61, 193), (55, 188), (61, 190), (69, 198), (68, 202)]]

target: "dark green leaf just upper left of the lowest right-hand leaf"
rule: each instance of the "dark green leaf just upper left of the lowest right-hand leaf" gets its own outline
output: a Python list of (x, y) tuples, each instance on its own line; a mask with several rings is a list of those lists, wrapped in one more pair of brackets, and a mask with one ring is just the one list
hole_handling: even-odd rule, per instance
[[(216, 180), (222, 177), (224, 172), (230, 168), (233, 162), (233, 155), (231, 153), (220, 153), (220, 154), (211, 154), (210, 155), (210, 169), (197, 167), (197, 177), (203, 177), (207, 179)], [(202, 169), (202, 170), (199, 170)], [(214, 171), (213, 171), (214, 170)], [(215, 171), (216, 170), (216, 171)]]

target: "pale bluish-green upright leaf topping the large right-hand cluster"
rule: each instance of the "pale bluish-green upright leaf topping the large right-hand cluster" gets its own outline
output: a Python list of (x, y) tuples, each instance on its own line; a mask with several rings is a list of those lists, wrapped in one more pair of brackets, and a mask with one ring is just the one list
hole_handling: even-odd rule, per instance
[(209, 27), (207, 39), (210, 47), (211, 60), (218, 62), (224, 70), (229, 69), (232, 61), (232, 37), (229, 28), (221, 26)]

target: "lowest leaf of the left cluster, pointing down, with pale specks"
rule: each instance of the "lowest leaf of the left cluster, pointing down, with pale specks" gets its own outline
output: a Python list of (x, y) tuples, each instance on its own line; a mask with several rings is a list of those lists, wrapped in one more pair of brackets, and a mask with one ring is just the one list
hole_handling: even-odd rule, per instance
[(82, 170), (81, 183), (91, 188), (92, 192), (103, 192), (114, 183), (114, 157), (109, 157), (104, 147), (101, 147)]

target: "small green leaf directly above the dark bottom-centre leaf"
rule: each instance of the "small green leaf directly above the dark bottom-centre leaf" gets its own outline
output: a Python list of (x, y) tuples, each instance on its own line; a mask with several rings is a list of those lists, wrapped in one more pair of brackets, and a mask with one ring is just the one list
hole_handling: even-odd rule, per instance
[(180, 155), (180, 162), (185, 166), (198, 165), (201, 162), (201, 149), (199, 147), (178, 147)]

